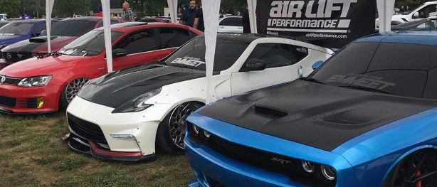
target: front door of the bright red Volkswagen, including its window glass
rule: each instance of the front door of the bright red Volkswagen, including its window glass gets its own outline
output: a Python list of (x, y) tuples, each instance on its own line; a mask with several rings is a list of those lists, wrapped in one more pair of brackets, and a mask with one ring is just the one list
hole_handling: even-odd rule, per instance
[(152, 28), (128, 34), (115, 44), (114, 50), (117, 49), (126, 50), (127, 55), (120, 57), (113, 55), (114, 70), (156, 62), (168, 54), (164, 55), (164, 52), (159, 50), (159, 41)]

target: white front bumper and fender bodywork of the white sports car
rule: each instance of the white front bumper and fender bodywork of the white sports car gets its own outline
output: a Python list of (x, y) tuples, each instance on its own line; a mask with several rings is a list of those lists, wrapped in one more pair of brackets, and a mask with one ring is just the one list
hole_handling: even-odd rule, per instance
[[(214, 75), (214, 100), (231, 95), (231, 75)], [(112, 113), (114, 108), (75, 97), (67, 112), (102, 129), (111, 151), (137, 152), (144, 156), (154, 154), (159, 123), (175, 107), (184, 102), (205, 103), (206, 78), (186, 80), (162, 87), (161, 92), (147, 100), (152, 107), (140, 112)], [(119, 139), (111, 134), (132, 134), (135, 139)]]

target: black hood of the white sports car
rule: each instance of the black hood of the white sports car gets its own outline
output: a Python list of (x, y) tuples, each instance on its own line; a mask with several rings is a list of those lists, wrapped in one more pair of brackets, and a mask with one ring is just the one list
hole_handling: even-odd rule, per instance
[(205, 76), (202, 70), (151, 64), (107, 74), (85, 85), (78, 96), (116, 108), (135, 97), (164, 85)]

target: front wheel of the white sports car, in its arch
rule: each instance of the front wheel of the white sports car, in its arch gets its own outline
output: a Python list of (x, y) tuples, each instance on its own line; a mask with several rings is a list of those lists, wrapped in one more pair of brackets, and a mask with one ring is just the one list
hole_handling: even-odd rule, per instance
[(167, 114), (157, 130), (157, 144), (163, 151), (169, 154), (184, 151), (186, 117), (203, 105), (201, 102), (185, 102)]

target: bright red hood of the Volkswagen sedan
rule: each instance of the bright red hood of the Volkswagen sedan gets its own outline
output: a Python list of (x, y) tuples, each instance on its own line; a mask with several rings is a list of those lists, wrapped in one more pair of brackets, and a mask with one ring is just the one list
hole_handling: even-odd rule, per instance
[(38, 75), (53, 75), (59, 71), (75, 68), (78, 63), (88, 63), (92, 56), (60, 55), (46, 58), (29, 58), (0, 70), (0, 75), (13, 78), (28, 78)]

